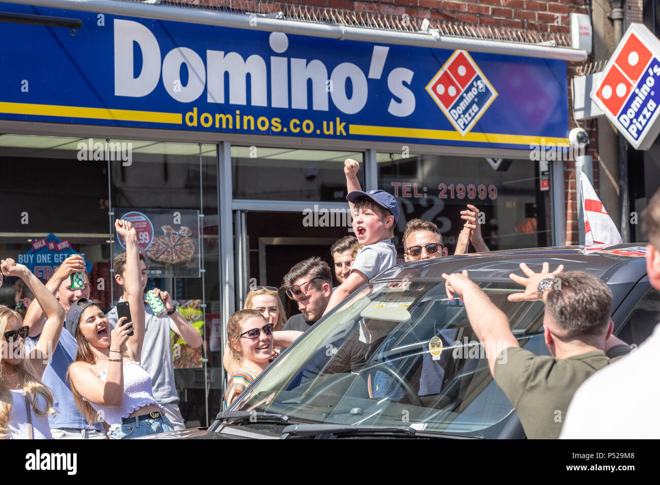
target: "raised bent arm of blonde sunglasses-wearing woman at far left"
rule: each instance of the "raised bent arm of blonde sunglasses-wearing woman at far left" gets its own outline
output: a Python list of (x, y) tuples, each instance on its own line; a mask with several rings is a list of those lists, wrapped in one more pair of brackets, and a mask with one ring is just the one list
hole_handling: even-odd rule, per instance
[(7, 258), (0, 262), (0, 267), (3, 275), (20, 277), (32, 290), (34, 298), (46, 313), (46, 324), (41, 337), (32, 352), (30, 352), (30, 358), (33, 358), (35, 363), (40, 364), (36, 366), (35, 370), (41, 377), (55, 351), (55, 347), (57, 347), (59, 335), (62, 333), (65, 317), (64, 309), (48, 288), (24, 265), (17, 265), (13, 259)]

